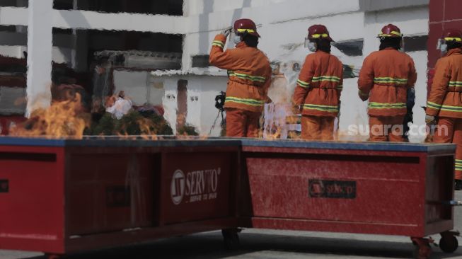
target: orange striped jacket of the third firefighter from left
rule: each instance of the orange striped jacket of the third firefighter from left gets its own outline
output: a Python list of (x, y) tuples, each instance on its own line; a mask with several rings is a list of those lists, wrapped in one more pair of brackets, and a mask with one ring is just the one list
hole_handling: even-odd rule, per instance
[(417, 80), (414, 61), (392, 47), (372, 52), (359, 72), (359, 95), (369, 96), (369, 115), (400, 116), (407, 113), (408, 88)]

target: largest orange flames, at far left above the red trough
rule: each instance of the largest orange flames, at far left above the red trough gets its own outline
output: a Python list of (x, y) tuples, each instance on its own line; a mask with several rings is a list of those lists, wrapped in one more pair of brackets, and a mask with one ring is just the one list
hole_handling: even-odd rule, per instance
[(47, 109), (31, 113), (29, 120), (11, 129), (16, 137), (83, 138), (83, 130), (90, 125), (90, 115), (83, 111), (81, 96), (54, 102)]

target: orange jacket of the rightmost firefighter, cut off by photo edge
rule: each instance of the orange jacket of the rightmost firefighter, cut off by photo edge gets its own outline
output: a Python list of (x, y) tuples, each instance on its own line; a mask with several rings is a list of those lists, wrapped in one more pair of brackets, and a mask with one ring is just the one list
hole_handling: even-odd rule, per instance
[(427, 114), (462, 118), (462, 50), (452, 49), (435, 66)]

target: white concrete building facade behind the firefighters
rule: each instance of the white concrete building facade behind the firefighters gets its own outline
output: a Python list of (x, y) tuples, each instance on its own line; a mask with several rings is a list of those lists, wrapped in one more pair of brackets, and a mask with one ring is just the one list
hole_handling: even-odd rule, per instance
[[(34, 1), (48, 4), (35, 8)], [(179, 67), (162, 67), (161, 71), (153, 65), (132, 71), (141, 64), (135, 62), (128, 66), (131, 69), (123, 66), (115, 69), (113, 77), (117, 80), (112, 90), (129, 92), (135, 103), (163, 105), (165, 116), (173, 126), (178, 116), (178, 82), (187, 81), (186, 122), (207, 134), (217, 112), (214, 96), (226, 89), (227, 79), (226, 71), (207, 64), (214, 35), (238, 18), (252, 18), (262, 35), (260, 49), (272, 62), (281, 64), (291, 84), (290, 90), (308, 54), (303, 45), (307, 29), (322, 23), (335, 40), (333, 54), (350, 69), (342, 93), (340, 117), (340, 132), (348, 138), (352, 135), (350, 125), (367, 124), (366, 103), (357, 97), (355, 76), (364, 57), (378, 49), (376, 35), (381, 27), (393, 23), (405, 34), (407, 52), (415, 59), (419, 74), (415, 124), (424, 124), (425, 115), (420, 106), (425, 105), (427, 96), (428, 0), (170, 0), (164, 6), (150, 5), (151, 8), (143, 8), (142, 4), (129, 7), (129, 1), (120, 0), (126, 3), (118, 7), (116, 4), (112, 9), (105, 8), (105, 1), (95, 1), (100, 5), (91, 6), (83, 0), (54, 0), (54, 3), (52, 0), (29, 0), (29, 3), (11, 0), (9, 6), (0, 7), (1, 28), (10, 30), (0, 32), (5, 36), (0, 37), (0, 54), (21, 58), (23, 52), (28, 51), (29, 109), (33, 109), (30, 105), (36, 96), (47, 93), (45, 82), (52, 80), (48, 70), (41, 70), (46, 66), (40, 64), (50, 64), (53, 60), (75, 71), (88, 71), (91, 67), (88, 59), (97, 50), (122, 51), (125, 57), (133, 57), (126, 51), (137, 49), (180, 53)], [(35, 13), (47, 13), (49, 19), (36, 21)], [(37, 33), (42, 30), (46, 33)], [(37, 57), (40, 62), (34, 66)], [(159, 59), (147, 59), (147, 62), (149, 60), (155, 63)], [(42, 105), (46, 105), (46, 100)], [(412, 137), (412, 141), (421, 140), (419, 134)]]

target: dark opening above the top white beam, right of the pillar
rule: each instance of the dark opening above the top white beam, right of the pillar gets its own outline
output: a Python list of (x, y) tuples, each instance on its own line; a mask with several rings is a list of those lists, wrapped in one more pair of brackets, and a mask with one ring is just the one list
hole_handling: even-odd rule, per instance
[[(72, 7), (72, 0), (54, 0), (55, 9), (67, 10), (72, 9)], [(79, 0), (77, 9), (104, 13), (148, 13), (183, 16), (183, 0)]]

